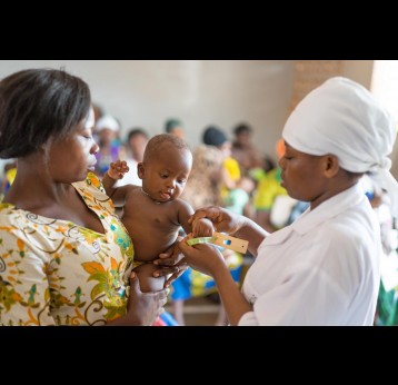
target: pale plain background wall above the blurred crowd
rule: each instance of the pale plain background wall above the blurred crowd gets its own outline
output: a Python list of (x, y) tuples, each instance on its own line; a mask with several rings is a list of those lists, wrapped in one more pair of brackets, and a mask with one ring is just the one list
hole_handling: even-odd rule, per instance
[(0, 61), (0, 78), (31, 67), (64, 67), (90, 86), (93, 101), (115, 115), (126, 134), (151, 135), (169, 117), (182, 119), (193, 146), (209, 124), (231, 132), (247, 121), (259, 148), (273, 156), (290, 101), (292, 61), (272, 60), (34, 60)]

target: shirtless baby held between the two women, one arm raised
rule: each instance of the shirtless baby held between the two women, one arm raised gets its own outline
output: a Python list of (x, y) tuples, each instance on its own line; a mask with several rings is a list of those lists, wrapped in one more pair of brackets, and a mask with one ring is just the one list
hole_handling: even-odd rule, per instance
[(179, 199), (191, 167), (192, 154), (187, 144), (176, 136), (161, 134), (148, 141), (143, 161), (137, 166), (142, 187), (113, 187), (129, 170), (126, 161), (120, 160), (110, 164), (102, 179), (115, 206), (123, 207), (121, 221), (132, 239), (133, 266), (142, 292), (160, 290), (163, 287), (166, 278), (152, 277), (152, 273), (159, 269), (152, 261), (176, 241), (180, 227), (195, 237), (211, 236), (213, 233), (209, 219), (188, 224), (193, 209)]

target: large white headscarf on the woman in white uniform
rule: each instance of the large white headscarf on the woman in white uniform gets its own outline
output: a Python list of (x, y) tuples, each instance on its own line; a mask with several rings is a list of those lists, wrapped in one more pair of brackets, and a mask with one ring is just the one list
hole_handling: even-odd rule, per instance
[(388, 158), (396, 124), (365, 87), (341, 77), (327, 80), (296, 107), (282, 137), (301, 152), (336, 155), (347, 171), (372, 172), (398, 215), (398, 182), (389, 172)]

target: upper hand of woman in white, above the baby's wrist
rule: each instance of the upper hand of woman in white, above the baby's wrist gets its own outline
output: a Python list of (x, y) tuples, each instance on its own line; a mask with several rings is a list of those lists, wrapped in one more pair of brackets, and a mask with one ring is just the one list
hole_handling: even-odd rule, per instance
[(189, 218), (188, 223), (192, 226), (202, 218), (208, 218), (212, 221), (217, 231), (225, 231), (233, 234), (238, 231), (245, 224), (245, 217), (238, 214), (228, 211), (225, 208), (217, 206), (203, 207), (195, 211)]

